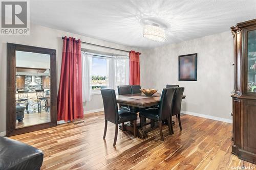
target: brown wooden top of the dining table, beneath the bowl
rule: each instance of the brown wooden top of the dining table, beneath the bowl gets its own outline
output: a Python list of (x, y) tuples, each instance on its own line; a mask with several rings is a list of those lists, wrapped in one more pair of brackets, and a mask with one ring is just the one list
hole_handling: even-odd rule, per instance
[[(145, 97), (144, 99), (132, 99), (131, 97), (135, 96), (141, 96), (142, 98)], [(117, 95), (116, 100), (117, 103), (121, 105), (127, 105), (127, 106), (134, 106), (134, 107), (139, 107), (139, 108), (146, 108), (146, 107), (151, 107), (151, 106), (156, 106), (158, 105), (160, 101), (161, 93), (157, 92), (153, 94), (152, 97), (146, 98), (146, 95), (143, 93), (138, 93), (138, 94), (125, 94), (125, 95)], [(139, 97), (140, 98), (140, 97)], [(183, 95), (182, 99), (185, 99), (186, 96)]]

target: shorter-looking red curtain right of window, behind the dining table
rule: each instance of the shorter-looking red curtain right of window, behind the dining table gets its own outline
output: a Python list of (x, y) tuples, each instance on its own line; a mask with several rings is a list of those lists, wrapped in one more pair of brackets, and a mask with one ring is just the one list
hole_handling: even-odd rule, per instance
[(130, 85), (140, 85), (140, 53), (130, 51)]

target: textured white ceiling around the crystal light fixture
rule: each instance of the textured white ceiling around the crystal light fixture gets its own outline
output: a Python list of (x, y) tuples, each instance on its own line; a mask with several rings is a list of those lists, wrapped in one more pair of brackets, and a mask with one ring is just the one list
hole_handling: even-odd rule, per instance
[[(31, 22), (38, 25), (143, 48), (229, 31), (256, 18), (255, 0), (33, 0), (30, 9)], [(142, 36), (144, 16), (169, 23), (166, 42)]]

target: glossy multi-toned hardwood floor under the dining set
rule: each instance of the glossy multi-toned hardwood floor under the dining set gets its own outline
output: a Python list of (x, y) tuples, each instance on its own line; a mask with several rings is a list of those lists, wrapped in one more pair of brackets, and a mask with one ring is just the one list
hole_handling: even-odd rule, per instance
[[(113, 147), (115, 125), (109, 123), (105, 140), (103, 112), (86, 115), (85, 123), (59, 125), (11, 138), (44, 152), (41, 169), (234, 169), (256, 165), (231, 154), (232, 125), (216, 120), (182, 115), (183, 130), (174, 117), (174, 135), (163, 126), (141, 140), (119, 130)], [(138, 119), (139, 122), (139, 119)], [(240, 168), (241, 168), (240, 167)], [(248, 168), (247, 168), (248, 169)]]

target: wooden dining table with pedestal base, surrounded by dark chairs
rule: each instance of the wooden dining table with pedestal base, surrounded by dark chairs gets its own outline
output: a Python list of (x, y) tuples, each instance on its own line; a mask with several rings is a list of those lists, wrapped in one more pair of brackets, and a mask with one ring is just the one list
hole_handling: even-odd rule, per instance
[[(126, 105), (130, 108), (141, 108), (146, 109), (154, 106), (158, 106), (161, 98), (161, 93), (156, 92), (152, 96), (147, 96), (143, 93), (137, 93), (137, 94), (124, 94), (124, 95), (116, 95), (116, 100), (119, 105)], [(185, 99), (186, 95), (182, 96), (182, 99)], [(133, 110), (131, 110), (133, 111)], [(149, 125), (150, 123), (145, 123), (144, 125)], [(122, 127), (124, 126), (124, 127)], [(129, 124), (123, 124), (119, 128), (123, 131), (130, 131), (133, 133), (133, 124), (132, 122)], [(145, 129), (143, 130), (142, 127), (140, 127), (140, 124), (135, 125), (137, 126), (137, 137), (144, 139), (147, 137), (147, 132), (152, 131), (154, 128)]]

